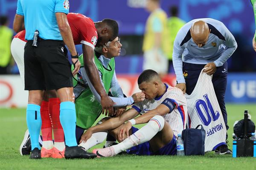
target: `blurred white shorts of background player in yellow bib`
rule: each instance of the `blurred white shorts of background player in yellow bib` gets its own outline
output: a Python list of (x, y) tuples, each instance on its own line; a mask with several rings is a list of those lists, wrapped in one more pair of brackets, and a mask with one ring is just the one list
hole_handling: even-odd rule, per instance
[(168, 59), (163, 51), (148, 50), (144, 52), (143, 70), (151, 69), (158, 74), (166, 74), (168, 71)]

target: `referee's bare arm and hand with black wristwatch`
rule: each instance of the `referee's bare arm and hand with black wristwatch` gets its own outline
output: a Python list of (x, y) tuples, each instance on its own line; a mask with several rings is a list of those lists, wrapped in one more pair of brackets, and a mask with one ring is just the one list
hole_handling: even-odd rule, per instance
[[(58, 28), (61, 32), (61, 36), (63, 38), (63, 41), (67, 45), (68, 50), (70, 51), (71, 56), (76, 56), (76, 47), (75, 43), (72, 37), (72, 32), (70, 29), (70, 26), (67, 21), (67, 14), (63, 12), (56, 12), (55, 13), (56, 20), (58, 23)], [(73, 70), (72, 74), (75, 75), (81, 66), (81, 63), (79, 62), (78, 58), (72, 58), (71, 59), (73, 63), (75, 63), (75, 69)]]

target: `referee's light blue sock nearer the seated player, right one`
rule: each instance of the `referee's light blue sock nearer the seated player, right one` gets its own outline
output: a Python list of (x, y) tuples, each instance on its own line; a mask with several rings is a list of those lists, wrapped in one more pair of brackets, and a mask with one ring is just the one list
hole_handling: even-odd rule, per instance
[(60, 121), (67, 146), (76, 146), (76, 108), (73, 102), (61, 102)]

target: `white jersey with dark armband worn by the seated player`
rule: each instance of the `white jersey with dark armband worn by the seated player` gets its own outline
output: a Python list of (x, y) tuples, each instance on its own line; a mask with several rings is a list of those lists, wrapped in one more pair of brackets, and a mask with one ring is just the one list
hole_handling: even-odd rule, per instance
[(157, 106), (165, 102), (166, 99), (173, 101), (176, 107), (171, 113), (164, 115), (163, 118), (169, 123), (177, 138), (178, 134), (181, 134), (182, 130), (186, 129), (188, 117), (186, 98), (179, 88), (166, 85), (166, 92), (162, 96), (151, 100), (145, 99), (143, 102), (133, 105), (132, 108), (143, 114), (157, 108)]

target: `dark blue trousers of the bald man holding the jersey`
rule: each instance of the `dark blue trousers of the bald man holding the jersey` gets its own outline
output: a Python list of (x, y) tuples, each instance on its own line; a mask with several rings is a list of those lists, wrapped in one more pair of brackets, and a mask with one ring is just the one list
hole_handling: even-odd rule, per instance
[[(186, 81), (187, 94), (190, 95), (194, 90), (198, 81), (199, 74), (201, 73), (201, 70), (204, 68), (204, 66), (205, 64), (201, 65), (183, 62), (183, 75)], [(228, 130), (229, 127), (227, 125), (227, 111), (225, 107), (225, 92), (227, 88), (227, 62), (225, 62), (221, 67), (217, 67), (217, 70), (212, 77), (212, 84), (218, 99), (218, 104), (221, 108), (221, 113), (223, 115), (226, 128)]]

